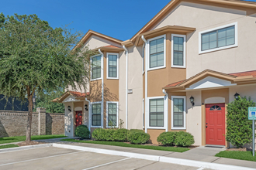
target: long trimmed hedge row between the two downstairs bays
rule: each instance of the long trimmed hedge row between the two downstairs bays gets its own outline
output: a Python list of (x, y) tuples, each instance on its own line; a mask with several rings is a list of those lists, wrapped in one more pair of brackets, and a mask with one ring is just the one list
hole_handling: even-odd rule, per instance
[(131, 129), (102, 129), (97, 128), (92, 132), (96, 141), (130, 141), (132, 144), (145, 144), (150, 135), (143, 130)]

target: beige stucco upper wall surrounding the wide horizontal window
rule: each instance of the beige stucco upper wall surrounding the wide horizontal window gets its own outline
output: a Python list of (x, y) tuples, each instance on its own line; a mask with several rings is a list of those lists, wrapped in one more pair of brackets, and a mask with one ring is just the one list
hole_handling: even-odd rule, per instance
[[(236, 9), (182, 2), (153, 29), (173, 25), (196, 28), (187, 34), (187, 78), (206, 69), (236, 73), (255, 70), (255, 16)], [(238, 47), (199, 55), (199, 32), (234, 22), (238, 27)]]

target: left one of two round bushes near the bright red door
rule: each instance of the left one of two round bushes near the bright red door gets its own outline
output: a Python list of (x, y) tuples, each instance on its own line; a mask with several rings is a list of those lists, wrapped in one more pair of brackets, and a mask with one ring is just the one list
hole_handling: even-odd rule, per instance
[(175, 138), (178, 132), (176, 131), (168, 131), (163, 132), (157, 137), (157, 142), (162, 145), (173, 146), (175, 145)]

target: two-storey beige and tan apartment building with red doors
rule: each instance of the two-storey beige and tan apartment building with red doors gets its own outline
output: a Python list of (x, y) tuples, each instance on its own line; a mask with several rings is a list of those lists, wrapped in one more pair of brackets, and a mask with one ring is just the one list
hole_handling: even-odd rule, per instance
[(225, 145), (227, 104), (256, 100), (256, 2), (172, 0), (126, 41), (89, 30), (88, 90), (67, 91), (65, 134), (143, 129), (150, 142), (164, 131), (187, 131), (194, 145)]

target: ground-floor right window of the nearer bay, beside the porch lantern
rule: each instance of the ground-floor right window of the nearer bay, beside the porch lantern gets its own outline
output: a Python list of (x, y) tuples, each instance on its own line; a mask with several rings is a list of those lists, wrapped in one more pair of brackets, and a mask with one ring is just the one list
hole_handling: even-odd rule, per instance
[(185, 113), (185, 96), (171, 96), (171, 129), (186, 129)]

